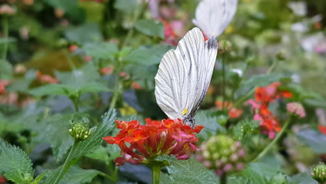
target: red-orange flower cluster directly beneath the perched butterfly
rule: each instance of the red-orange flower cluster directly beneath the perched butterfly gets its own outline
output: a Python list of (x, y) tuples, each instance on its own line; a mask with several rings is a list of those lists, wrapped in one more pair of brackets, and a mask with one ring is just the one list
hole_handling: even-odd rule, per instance
[(203, 129), (202, 125), (192, 129), (180, 119), (153, 121), (150, 118), (146, 118), (146, 125), (140, 125), (138, 120), (116, 121), (116, 127), (121, 129), (116, 137), (103, 139), (121, 148), (122, 157), (114, 160), (118, 165), (125, 162), (146, 164), (157, 155), (175, 155), (179, 160), (187, 159), (198, 150), (194, 145), (198, 140), (194, 133)]

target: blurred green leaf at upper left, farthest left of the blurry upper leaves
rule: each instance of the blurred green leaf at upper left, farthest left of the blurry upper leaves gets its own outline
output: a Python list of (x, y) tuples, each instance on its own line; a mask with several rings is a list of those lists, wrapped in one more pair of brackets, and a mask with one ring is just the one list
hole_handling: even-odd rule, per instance
[(65, 32), (65, 38), (71, 42), (85, 44), (92, 42), (100, 42), (103, 40), (98, 24), (84, 24)]

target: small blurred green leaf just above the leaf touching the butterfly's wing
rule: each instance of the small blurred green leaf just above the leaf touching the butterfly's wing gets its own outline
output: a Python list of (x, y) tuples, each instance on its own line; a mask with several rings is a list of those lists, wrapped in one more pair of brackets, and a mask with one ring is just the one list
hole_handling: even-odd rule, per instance
[(159, 36), (164, 39), (164, 26), (159, 20), (139, 20), (134, 28), (148, 36)]

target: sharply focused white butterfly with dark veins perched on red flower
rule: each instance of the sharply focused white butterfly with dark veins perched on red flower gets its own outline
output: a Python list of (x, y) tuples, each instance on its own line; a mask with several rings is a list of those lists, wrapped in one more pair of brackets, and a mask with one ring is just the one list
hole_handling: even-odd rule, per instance
[(164, 54), (155, 76), (155, 96), (169, 118), (181, 118), (194, 127), (194, 116), (207, 93), (216, 56), (215, 36), (204, 42), (199, 28), (189, 31), (176, 49)]

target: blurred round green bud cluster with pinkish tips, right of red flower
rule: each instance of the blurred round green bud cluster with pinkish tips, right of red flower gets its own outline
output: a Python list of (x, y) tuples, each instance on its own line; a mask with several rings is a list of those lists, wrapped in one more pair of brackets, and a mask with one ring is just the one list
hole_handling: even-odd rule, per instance
[(240, 141), (234, 141), (226, 135), (217, 135), (201, 145), (201, 151), (197, 153), (196, 159), (221, 176), (243, 169), (244, 155)]

